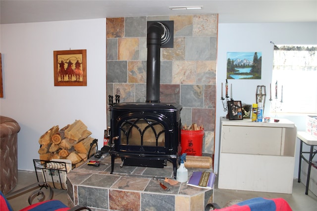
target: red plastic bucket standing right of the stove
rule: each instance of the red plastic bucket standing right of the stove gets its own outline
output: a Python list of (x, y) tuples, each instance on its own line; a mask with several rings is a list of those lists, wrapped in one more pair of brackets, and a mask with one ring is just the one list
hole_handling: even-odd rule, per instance
[(202, 156), (204, 130), (181, 130), (180, 145), (181, 154)]

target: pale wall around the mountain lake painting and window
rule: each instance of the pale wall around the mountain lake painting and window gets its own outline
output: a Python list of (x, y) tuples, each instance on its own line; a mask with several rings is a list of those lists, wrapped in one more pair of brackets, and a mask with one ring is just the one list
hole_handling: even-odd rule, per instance
[[(233, 99), (252, 104), (256, 102), (257, 85), (265, 85), (267, 93), (269, 90), (273, 67), (273, 44), (270, 41), (275, 44), (317, 44), (317, 23), (219, 24), (214, 160), (216, 172), (218, 171), (219, 156), (219, 118), (226, 115), (220, 100), (221, 82), (225, 83), (226, 79), (226, 53), (262, 52), (261, 80), (228, 80), (229, 87), (230, 84), (233, 86)], [(269, 100), (266, 100), (265, 104), (264, 116), (271, 116), (269, 114)], [(305, 130), (304, 116), (279, 116), (279, 118), (287, 118), (296, 124), (298, 130)], [(295, 178), (298, 176), (298, 160), (299, 141), (296, 150)]]

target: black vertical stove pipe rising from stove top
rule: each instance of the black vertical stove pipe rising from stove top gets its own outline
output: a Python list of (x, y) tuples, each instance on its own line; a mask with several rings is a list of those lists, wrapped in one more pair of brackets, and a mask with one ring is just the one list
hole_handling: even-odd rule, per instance
[(165, 26), (159, 22), (153, 23), (147, 34), (147, 103), (158, 103), (160, 74), (161, 37), (166, 32)]

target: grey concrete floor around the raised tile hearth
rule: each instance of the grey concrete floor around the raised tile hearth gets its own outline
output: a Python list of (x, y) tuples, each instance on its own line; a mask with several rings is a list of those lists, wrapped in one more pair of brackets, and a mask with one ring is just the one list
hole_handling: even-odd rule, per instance
[[(29, 184), (37, 182), (35, 172), (33, 171), (18, 171), (18, 184), (14, 190), (23, 188)], [(231, 200), (247, 200), (255, 197), (264, 198), (283, 198), (291, 206), (293, 211), (316, 211), (317, 210), (317, 196), (309, 191), (308, 195), (305, 195), (305, 185), (298, 183), (297, 180), (293, 182), (292, 194), (279, 194), (279, 193), (265, 193), (265, 192), (253, 192), (253, 191), (238, 191), (238, 190), (224, 190), (217, 188), (217, 181), (214, 187), (213, 201), (220, 207), (224, 207), (227, 202)], [(67, 205), (67, 191), (53, 189), (54, 197), (62, 201)], [(18, 211), (28, 206), (28, 194), (18, 196), (14, 199), (10, 199), (9, 203), (14, 211)]]

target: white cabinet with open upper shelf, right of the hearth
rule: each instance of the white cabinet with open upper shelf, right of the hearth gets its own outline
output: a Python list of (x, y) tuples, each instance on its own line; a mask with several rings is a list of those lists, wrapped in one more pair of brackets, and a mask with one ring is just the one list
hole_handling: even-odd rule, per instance
[(220, 118), (218, 188), (292, 193), (297, 128)]

